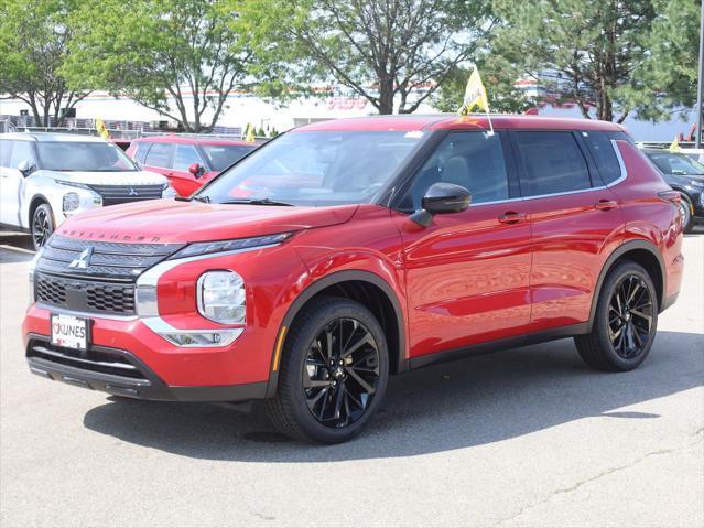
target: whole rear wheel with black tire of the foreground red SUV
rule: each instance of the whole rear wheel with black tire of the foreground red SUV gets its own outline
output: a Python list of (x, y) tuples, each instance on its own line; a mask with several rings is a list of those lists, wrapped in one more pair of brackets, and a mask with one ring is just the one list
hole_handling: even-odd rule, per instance
[(574, 338), (577, 352), (597, 370), (632, 370), (650, 353), (658, 328), (652, 279), (640, 265), (625, 260), (609, 271), (598, 295), (592, 332)]

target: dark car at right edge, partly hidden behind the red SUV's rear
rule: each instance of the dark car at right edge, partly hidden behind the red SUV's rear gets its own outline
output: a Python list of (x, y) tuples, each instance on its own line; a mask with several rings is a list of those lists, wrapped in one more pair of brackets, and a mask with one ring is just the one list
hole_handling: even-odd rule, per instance
[(650, 149), (645, 153), (664, 181), (682, 195), (680, 208), (685, 233), (695, 223), (704, 222), (704, 164), (679, 152)]

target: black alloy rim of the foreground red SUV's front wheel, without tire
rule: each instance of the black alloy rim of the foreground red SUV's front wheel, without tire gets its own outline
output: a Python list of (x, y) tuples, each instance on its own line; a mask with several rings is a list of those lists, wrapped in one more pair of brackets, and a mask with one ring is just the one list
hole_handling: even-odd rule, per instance
[(331, 321), (308, 346), (303, 366), (305, 402), (323, 425), (344, 428), (369, 408), (379, 385), (379, 348), (364, 323)]

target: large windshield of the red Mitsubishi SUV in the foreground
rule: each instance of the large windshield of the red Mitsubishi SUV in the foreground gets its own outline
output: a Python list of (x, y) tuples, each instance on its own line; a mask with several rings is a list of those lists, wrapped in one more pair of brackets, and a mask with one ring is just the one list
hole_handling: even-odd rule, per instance
[(369, 203), (420, 144), (421, 132), (290, 132), (267, 143), (198, 193), (223, 203)]

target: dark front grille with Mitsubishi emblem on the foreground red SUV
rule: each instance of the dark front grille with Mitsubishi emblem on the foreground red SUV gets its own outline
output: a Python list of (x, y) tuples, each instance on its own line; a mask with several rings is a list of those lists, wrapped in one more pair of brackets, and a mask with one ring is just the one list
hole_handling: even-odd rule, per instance
[[(78, 312), (134, 315), (137, 278), (183, 246), (108, 243), (54, 235), (36, 265), (35, 299), (50, 306)], [(82, 265), (76, 265), (77, 261)]]

